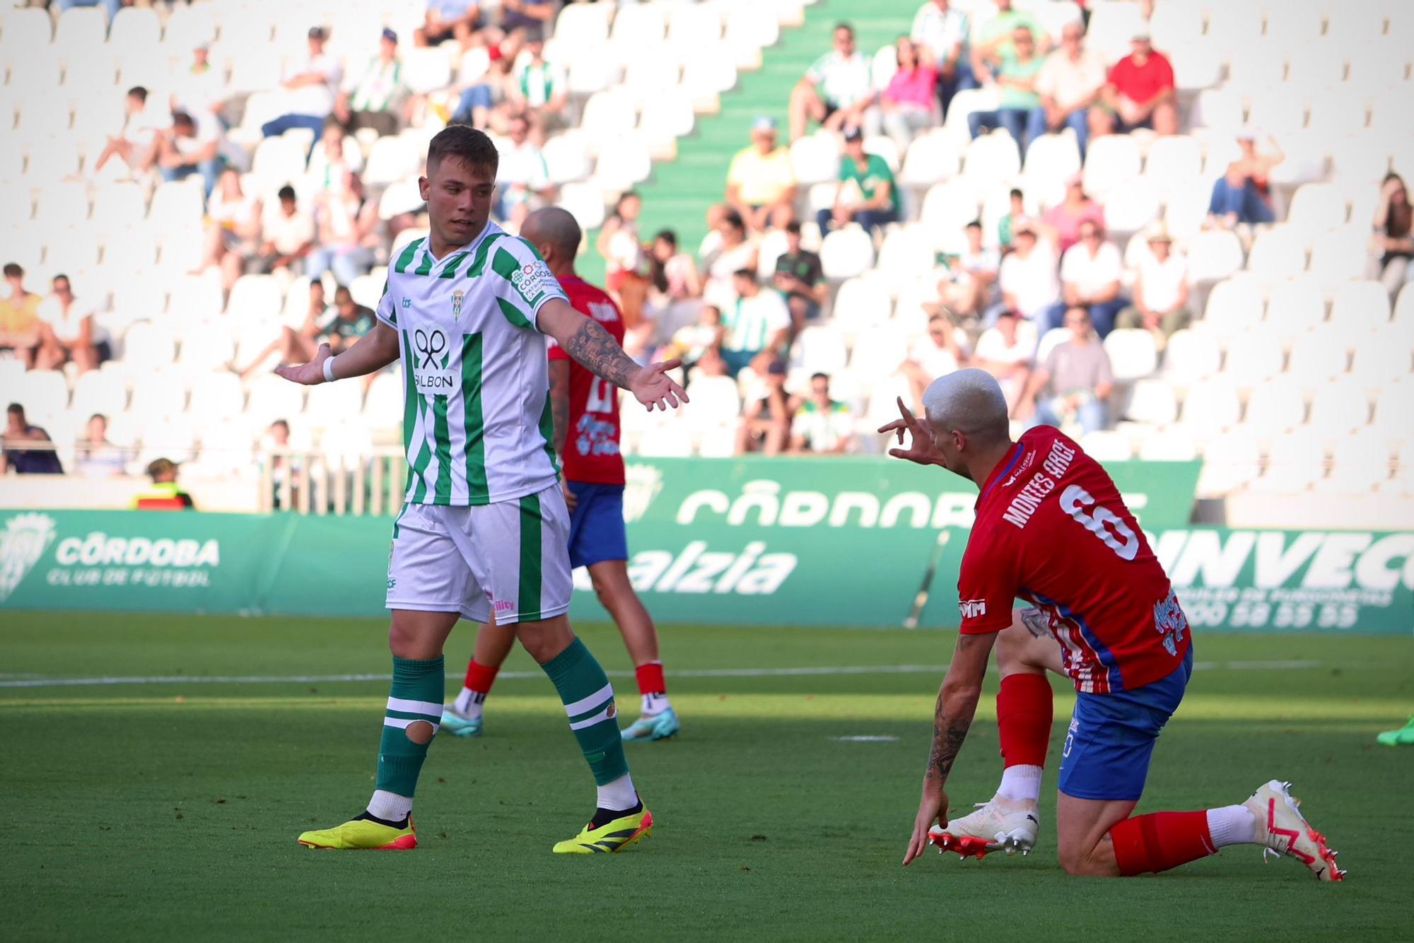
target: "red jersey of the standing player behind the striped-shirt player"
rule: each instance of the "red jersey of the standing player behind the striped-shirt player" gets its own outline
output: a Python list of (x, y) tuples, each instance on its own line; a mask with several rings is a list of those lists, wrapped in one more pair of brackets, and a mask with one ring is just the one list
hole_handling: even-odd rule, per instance
[[(570, 307), (594, 318), (624, 344), (624, 315), (614, 298), (575, 276), (560, 279)], [(551, 361), (570, 362), (570, 433), (564, 443), (564, 476), (587, 485), (622, 485), (618, 387), (575, 363), (554, 338), (546, 338)]]

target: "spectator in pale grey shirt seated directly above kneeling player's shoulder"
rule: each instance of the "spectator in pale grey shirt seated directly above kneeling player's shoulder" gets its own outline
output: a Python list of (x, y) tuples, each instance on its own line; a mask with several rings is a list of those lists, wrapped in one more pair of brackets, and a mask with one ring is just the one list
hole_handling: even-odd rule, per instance
[(1090, 315), (1083, 307), (1065, 312), (1065, 327), (1070, 339), (1053, 346), (1046, 362), (1031, 375), (1017, 407), (1018, 418), (1056, 427), (1075, 421), (1082, 433), (1094, 433), (1109, 423), (1107, 403), (1114, 390), (1110, 355), (1090, 329)]

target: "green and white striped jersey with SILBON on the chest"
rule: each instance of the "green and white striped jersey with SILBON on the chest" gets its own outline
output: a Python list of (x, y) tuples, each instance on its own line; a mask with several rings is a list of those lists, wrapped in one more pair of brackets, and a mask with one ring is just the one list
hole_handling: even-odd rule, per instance
[(403, 444), (414, 505), (491, 505), (556, 481), (540, 307), (564, 298), (530, 243), (493, 222), (444, 259), (428, 239), (387, 269), (378, 318), (403, 356)]

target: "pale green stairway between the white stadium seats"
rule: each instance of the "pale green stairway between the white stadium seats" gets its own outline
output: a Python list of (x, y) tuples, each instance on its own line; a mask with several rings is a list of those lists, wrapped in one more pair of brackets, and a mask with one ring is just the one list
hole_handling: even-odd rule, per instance
[(781, 30), (781, 41), (762, 49), (761, 68), (742, 72), (737, 88), (721, 95), (715, 115), (700, 115), (697, 126), (677, 141), (677, 158), (653, 165), (653, 175), (638, 191), (643, 195), (639, 235), (659, 229), (677, 232), (679, 245), (696, 252), (707, 233), (707, 208), (721, 202), (727, 165), (749, 144), (751, 122), (769, 115), (788, 141), (786, 106), (790, 89), (816, 58), (830, 49), (837, 23), (850, 23), (860, 52), (872, 57), (880, 47), (906, 34), (919, 0), (819, 0), (805, 8), (805, 23)]

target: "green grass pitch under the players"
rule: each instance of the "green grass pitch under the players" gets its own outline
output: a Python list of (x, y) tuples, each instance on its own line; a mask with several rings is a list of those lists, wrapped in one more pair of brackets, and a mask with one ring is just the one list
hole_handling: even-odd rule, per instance
[[(618, 636), (581, 626), (611, 672)], [(1414, 749), (1374, 732), (1414, 708), (1414, 640), (1199, 636), (1140, 812), (1240, 802), (1291, 779), (1350, 877), (1319, 885), (1254, 847), (1159, 877), (1055, 864), (1056, 727), (1029, 858), (899, 861), (953, 636), (665, 626), (683, 734), (629, 745), (658, 819), (619, 855), (557, 857), (592, 807), (549, 681), (516, 653), (486, 737), (440, 738), (413, 854), (294, 838), (359, 812), (385, 681), (16, 687), (75, 677), (383, 673), (383, 622), (88, 614), (0, 621), (0, 939), (1410, 939)], [(458, 690), (471, 632), (448, 649)], [(1274, 666), (1273, 662), (1287, 662)], [(1264, 664), (1254, 664), (1264, 663)], [(674, 669), (936, 670), (674, 676)], [(1000, 771), (991, 677), (949, 783), (954, 810)], [(618, 674), (621, 707), (635, 705)], [(889, 738), (880, 741), (847, 737)], [(896, 739), (894, 739), (896, 738)]]

